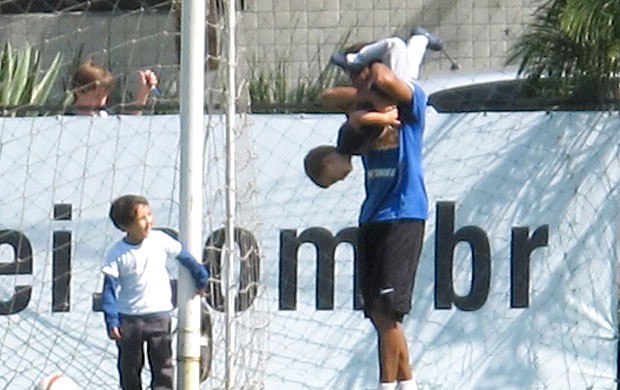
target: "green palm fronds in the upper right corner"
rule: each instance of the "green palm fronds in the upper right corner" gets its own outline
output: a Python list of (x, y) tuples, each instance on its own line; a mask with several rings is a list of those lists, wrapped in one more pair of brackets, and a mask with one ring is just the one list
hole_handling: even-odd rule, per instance
[(546, 0), (507, 62), (518, 63), (519, 75), (530, 79), (557, 79), (553, 93), (613, 97), (620, 76), (620, 1)]

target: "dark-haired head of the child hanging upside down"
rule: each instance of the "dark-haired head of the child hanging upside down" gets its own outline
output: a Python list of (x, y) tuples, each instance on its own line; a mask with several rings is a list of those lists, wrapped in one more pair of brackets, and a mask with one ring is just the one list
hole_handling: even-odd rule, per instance
[(340, 153), (335, 146), (321, 145), (306, 154), (304, 169), (314, 184), (327, 188), (344, 179), (353, 167), (350, 155)]

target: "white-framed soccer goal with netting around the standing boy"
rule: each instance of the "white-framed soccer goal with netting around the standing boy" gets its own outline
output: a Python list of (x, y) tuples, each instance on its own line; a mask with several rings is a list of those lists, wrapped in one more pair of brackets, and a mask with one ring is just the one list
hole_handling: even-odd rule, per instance
[[(52, 373), (85, 389), (118, 383), (116, 347), (106, 338), (101, 313), (99, 269), (106, 248), (120, 238), (106, 215), (109, 202), (123, 193), (149, 199), (156, 227), (191, 241), (211, 271), (209, 294), (190, 310), (202, 326), (190, 320), (193, 328), (186, 332), (177, 314), (182, 309), (175, 311), (175, 336), (197, 332), (176, 357), (183, 362), (182, 349), (189, 351), (185, 360), (200, 360), (192, 383), (181, 386), (262, 386), (269, 317), (259, 280), (255, 152), (244, 135), (244, 105), (237, 104), (243, 89), (229, 70), (239, 61), (228, 43), (235, 29), (229, 15), (236, 11), (234, 4), (207, 1), (184, 16), (182, 6), (180, 0), (0, 5), (3, 33), (14, 48), (28, 44), (38, 51), (39, 71), (49, 65), (50, 53), (63, 52), (45, 112), (64, 112), (72, 72), (84, 60), (108, 68), (115, 79), (108, 118), (26, 118), (17, 107), (17, 117), (3, 119), (3, 142), (15, 148), (2, 151), (11, 184), (5, 187), (0, 245), (0, 324), (6, 330), (1, 388), (31, 388)], [(193, 49), (201, 58), (193, 64), (182, 38), (184, 17), (202, 35), (202, 47)], [(44, 38), (20, 34), (24, 23), (37, 26)], [(192, 77), (190, 68), (202, 74)], [(158, 74), (159, 92), (139, 107), (143, 115), (126, 115), (141, 69)], [(171, 275), (177, 279), (173, 264)], [(175, 281), (180, 290), (187, 287), (182, 278)], [(149, 378), (147, 365), (145, 384)]]

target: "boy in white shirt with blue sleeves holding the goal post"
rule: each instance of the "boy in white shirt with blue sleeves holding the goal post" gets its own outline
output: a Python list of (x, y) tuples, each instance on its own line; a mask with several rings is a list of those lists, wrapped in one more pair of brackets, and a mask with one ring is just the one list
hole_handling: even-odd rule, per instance
[[(147, 345), (152, 379), (150, 389), (172, 390), (172, 289), (166, 263), (176, 258), (196, 283), (197, 293), (209, 274), (181, 242), (153, 228), (146, 198), (124, 195), (109, 213), (125, 237), (110, 248), (103, 262), (103, 312), (108, 337), (118, 347), (118, 370), (123, 390), (142, 389), (143, 344)], [(118, 295), (117, 295), (118, 294)]]

